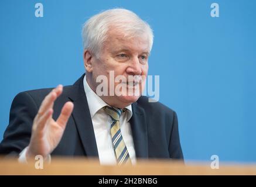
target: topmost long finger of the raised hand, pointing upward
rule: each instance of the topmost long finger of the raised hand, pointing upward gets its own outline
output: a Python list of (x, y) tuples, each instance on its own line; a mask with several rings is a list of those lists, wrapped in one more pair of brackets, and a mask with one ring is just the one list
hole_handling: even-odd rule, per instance
[(54, 88), (46, 97), (43, 99), (43, 102), (39, 108), (38, 115), (43, 116), (43, 114), (50, 108), (53, 107), (54, 101), (57, 99), (57, 97), (62, 93), (63, 86), (59, 85), (56, 88)]

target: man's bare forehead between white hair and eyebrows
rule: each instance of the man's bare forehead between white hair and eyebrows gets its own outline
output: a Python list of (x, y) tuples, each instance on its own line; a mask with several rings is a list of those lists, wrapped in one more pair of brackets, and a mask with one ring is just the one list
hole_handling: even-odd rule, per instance
[(149, 38), (145, 33), (127, 36), (122, 30), (110, 29), (107, 33), (104, 48), (108, 51), (129, 50), (149, 53)]

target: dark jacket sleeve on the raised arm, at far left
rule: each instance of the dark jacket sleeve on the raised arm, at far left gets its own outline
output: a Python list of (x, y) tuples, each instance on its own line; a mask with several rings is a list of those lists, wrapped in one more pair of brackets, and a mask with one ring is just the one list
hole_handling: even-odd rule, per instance
[(17, 156), (28, 146), (33, 119), (38, 106), (27, 92), (21, 92), (12, 101), (9, 125), (0, 143), (0, 154)]

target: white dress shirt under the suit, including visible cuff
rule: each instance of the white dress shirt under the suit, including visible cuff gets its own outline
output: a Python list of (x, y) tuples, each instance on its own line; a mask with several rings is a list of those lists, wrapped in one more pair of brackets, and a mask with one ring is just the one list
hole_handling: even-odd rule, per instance
[[(104, 112), (103, 107), (109, 106), (105, 103), (88, 85), (86, 81), (86, 76), (83, 80), (84, 91), (86, 92), (86, 98), (88, 102), (88, 107), (90, 110), (91, 120), (93, 122), (93, 130), (95, 134), (95, 140), (97, 143), (98, 156), (100, 158), (101, 164), (117, 164), (117, 159), (115, 156), (114, 147), (112, 144), (112, 138), (110, 134), (111, 127), (111, 117)], [(86, 103), (84, 103), (85, 105)], [(132, 164), (136, 163), (136, 155), (134, 149), (134, 141), (132, 139), (131, 124), (128, 122), (132, 117), (132, 106), (129, 105), (125, 107), (126, 112), (122, 113), (120, 116), (120, 129), (122, 138), (124, 140), (125, 146), (127, 147), (129, 156), (131, 158)], [(19, 154), (19, 162), (26, 161), (26, 147)], [(50, 155), (47, 157), (50, 161)]]

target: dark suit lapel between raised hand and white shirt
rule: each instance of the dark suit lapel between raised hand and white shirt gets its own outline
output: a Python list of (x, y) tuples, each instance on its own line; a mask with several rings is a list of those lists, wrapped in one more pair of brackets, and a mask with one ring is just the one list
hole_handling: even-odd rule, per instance
[(69, 98), (74, 103), (72, 116), (76, 123), (78, 134), (88, 157), (98, 157), (93, 122), (91, 121), (86, 93), (83, 85), (84, 75), (71, 88)]

